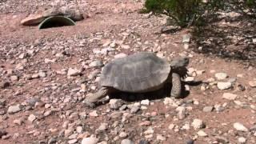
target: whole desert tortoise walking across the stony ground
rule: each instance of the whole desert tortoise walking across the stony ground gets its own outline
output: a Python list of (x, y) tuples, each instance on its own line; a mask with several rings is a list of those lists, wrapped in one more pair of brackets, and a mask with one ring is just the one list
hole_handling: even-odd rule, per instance
[(86, 96), (86, 105), (94, 106), (94, 102), (118, 90), (150, 92), (162, 88), (166, 83), (172, 85), (170, 95), (178, 98), (182, 92), (181, 76), (186, 75), (188, 64), (189, 58), (175, 58), (169, 63), (149, 52), (115, 58), (104, 66), (99, 82), (102, 88)]

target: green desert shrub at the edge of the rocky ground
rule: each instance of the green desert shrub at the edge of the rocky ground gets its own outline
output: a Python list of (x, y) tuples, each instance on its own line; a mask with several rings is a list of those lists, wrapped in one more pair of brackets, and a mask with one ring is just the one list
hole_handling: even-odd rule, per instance
[(255, 14), (255, 0), (146, 0), (144, 11), (166, 14), (178, 26), (186, 27), (206, 22), (217, 10), (240, 10)]

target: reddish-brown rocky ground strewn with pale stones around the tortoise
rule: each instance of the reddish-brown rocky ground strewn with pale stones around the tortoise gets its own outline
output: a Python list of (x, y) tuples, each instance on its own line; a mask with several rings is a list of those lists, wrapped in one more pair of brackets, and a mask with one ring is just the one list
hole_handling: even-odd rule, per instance
[[(132, 0), (78, 1), (89, 18), (77, 26), (38, 30), (20, 25), (28, 14), (54, 4), (0, 2), (0, 143), (256, 142), (254, 53), (248, 62), (198, 53), (215, 39), (188, 44), (182, 40), (190, 30), (159, 33), (166, 18), (138, 14), (143, 3)], [(66, 4), (76, 6), (74, 1)], [(225, 26), (236, 29), (239, 24), (216, 25), (226, 32)], [(250, 26), (255, 28), (255, 22)], [(229, 43), (216, 38), (226, 44), (223, 49), (240, 50), (239, 42), (255, 46), (254, 35), (246, 34), (223, 36), (233, 40)], [(137, 51), (190, 57), (185, 98), (121, 94), (141, 99), (112, 98), (86, 108), (83, 100), (98, 90), (104, 64)]]

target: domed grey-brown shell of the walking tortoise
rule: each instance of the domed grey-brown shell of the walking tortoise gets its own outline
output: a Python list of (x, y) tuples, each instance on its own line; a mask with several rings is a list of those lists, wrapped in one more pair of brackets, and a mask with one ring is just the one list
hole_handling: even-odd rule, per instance
[(100, 84), (126, 92), (147, 92), (160, 88), (169, 74), (170, 63), (166, 59), (140, 52), (107, 63)]

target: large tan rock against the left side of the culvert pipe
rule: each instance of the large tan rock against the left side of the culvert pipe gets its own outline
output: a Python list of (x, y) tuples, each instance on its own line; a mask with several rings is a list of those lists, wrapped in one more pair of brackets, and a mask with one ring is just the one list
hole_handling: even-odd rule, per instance
[(27, 18), (22, 19), (21, 24), (23, 26), (33, 26), (42, 22), (45, 18), (42, 14), (30, 14)]

